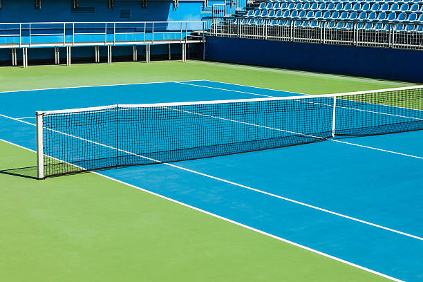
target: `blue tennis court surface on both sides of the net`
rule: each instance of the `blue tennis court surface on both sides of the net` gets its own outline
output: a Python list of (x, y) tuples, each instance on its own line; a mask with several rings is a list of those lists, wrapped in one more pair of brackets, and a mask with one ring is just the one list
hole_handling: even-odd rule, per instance
[[(301, 94), (189, 81), (0, 95), (0, 139), (35, 150), (35, 111)], [(423, 281), (422, 140), (411, 131), (98, 173), (380, 275)]]

